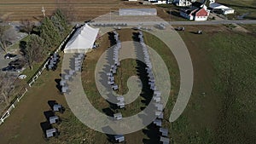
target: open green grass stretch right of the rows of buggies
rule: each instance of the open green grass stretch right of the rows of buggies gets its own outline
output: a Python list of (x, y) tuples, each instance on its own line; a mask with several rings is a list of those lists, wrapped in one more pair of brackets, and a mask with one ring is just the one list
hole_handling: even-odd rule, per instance
[[(183, 117), (172, 124), (172, 140), (253, 143), (256, 139), (253, 135), (256, 132), (253, 123), (256, 120), (255, 37), (231, 31), (203, 35), (181, 32), (181, 36), (192, 56), (195, 84)], [(198, 57), (201, 60), (196, 60)], [(204, 68), (205, 61), (209, 61), (210, 68)], [(201, 75), (197, 76), (200, 71)], [(210, 77), (204, 77), (208, 73)]]

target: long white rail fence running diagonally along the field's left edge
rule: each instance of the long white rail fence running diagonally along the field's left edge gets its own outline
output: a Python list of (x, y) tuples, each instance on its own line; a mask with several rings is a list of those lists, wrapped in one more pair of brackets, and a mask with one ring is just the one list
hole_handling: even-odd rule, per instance
[[(75, 29), (73, 29), (73, 30), (68, 34), (68, 36), (67, 36), (67, 37), (62, 41), (62, 43), (59, 45), (58, 49), (55, 49), (54, 53), (58, 53), (58, 52), (61, 50), (62, 46), (67, 42), (67, 39), (73, 34), (74, 31), (75, 31)], [(42, 72), (44, 71), (46, 65), (47, 65), (48, 62), (49, 62), (49, 59), (50, 59), (50, 58), (48, 58), (47, 60), (45, 60), (44, 65), (42, 65), (42, 66), (38, 69), (38, 71), (35, 72), (36, 74), (34, 74), (34, 76), (29, 80), (29, 82), (28, 82), (29, 87), (31, 87), (32, 84), (34, 84), (34, 83), (36, 82), (36, 80), (39, 78), (39, 76), (42, 74)], [(16, 98), (16, 100), (15, 100), (14, 102), (12, 102), (12, 103), (10, 104), (9, 108), (7, 109), (7, 111), (3, 112), (3, 115), (2, 115), (2, 117), (0, 118), (0, 125), (3, 124), (4, 120), (9, 117), (10, 113), (11, 113), (12, 110), (15, 108), (15, 106), (17, 106), (17, 104), (20, 102), (20, 100), (22, 99), (22, 97), (26, 94), (27, 90), (28, 90), (28, 89), (25, 87), (25, 91), (24, 91), (21, 95), (19, 95), (19, 96)]]

